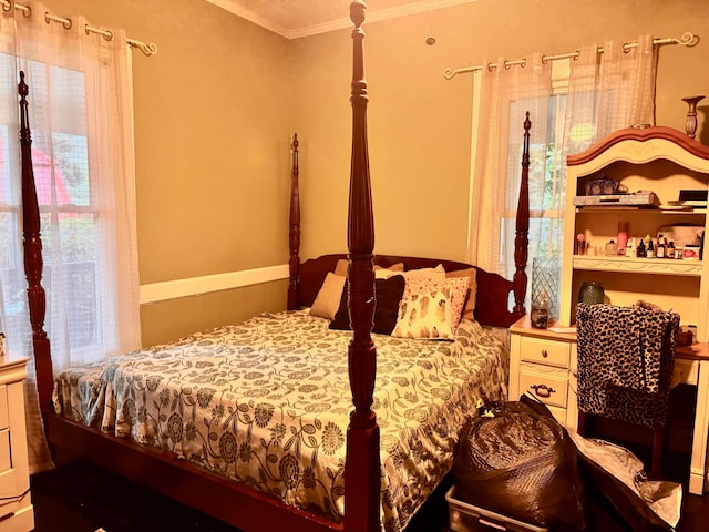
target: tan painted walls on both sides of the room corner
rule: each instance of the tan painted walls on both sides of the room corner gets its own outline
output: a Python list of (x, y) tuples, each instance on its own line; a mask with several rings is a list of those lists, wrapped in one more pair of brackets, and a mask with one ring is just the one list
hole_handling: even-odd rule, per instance
[[(369, 3), (374, 9), (376, 0)], [(153, 58), (133, 52), (142, 284), (287, 262), (294, 131), (301, 140), (302, 256), (346, 250), (349, 29), (289, 42), (205, 1), (45, 4), (158, 45)], [(448, 66), (691, 31), (701, 38), (696, 47), (659, 52), (657, 123), (684, 129), (680, 98), (707, 94), (700, 134), (709, 144), (708, 2), (477, 0), (434, 11), (433, 47), (424, 43), (429, 24), (429, 13), (364, 24), (380, 253), (465, 257), (472, 80), (445, 80)], [(282, 308), (285, 286), (145, 306), (144, 344), (195, 323)]]

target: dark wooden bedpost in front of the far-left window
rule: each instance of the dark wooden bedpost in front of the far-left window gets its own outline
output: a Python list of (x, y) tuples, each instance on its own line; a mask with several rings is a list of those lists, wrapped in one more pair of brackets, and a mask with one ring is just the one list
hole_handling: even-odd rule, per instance
[(47, 299), (42, 287), (42, 238), (40, 236), (40, 207), (34, 187), (32, 170), (32, 134), (28, 114), (27, 95), (29, 88), (24, 83), (24, 72), (20, 72), (18, 85), (20, 94), (20, 146), (22, 149), (22, 235), (24, 247), (24, 275), (27, 276), (27, 296), (32, 326), (32, 346), (37, 368), (37, 388), (40, 407), (50, 408), (54, 379), (49, 338), (44, 331)]

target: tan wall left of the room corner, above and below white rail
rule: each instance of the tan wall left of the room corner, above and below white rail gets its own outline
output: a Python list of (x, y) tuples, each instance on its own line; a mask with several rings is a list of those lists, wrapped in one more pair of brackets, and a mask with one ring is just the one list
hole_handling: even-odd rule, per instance
[[(287, 263), (290, 42), (206, 1), (45, 6), (158, 47), (132, 52), (141, 284)], [(143, 306), (143, 344), (282, 309), (285, 286)]]

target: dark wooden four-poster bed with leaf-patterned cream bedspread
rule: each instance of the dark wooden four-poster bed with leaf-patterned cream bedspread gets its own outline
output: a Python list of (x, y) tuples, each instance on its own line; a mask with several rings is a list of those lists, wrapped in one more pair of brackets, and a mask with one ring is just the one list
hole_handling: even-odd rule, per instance
[[(22, 79), (20, 83), (22, 198), (30, 319), (40, 403), (48, 440), (58, 463), (74, 458), (90, 459), (246, 531), (280, 529), (360, 532), (381, 530), (382, 526), (387, 530), (401, 530), (418, 510), (420, 499), (434, 488), (430, 485), (427, 488), (428, 491), (419, 494), (413, 489), (415, 484), (427, 482), (435, 484), (450, 469), (455, 432), (460, 430), (464, 417), (474, 411), (475, 398), (482, 395), (484, 398), (500, 399), (502, 397), (497, 393), (504, 395), (507, 360), (504, 357), (500, 358), (501, 354), (505, 355), (504, 345), (494, 337), (490, 326), (507, 327), (524, 314), (526, 288), (524, 270), (527, 258), (528, 223), (526, 185), (528, 120), (524, 124), (525, 143), (515, 239), (516, 273), (513, 280), (453, 260), (374, 256), (367, 145), (368, 95), (362, 47), (364, 34), (361, 29), (364, 20), (364, 3), (352, 2), (350, 11), (354, 31), (352, 33), (353, 122), (348, 217), (349, 254), (326, 255), (300, 262), (298, 255), (300, 241), (298, 140), (295, 137), (290, 205), (289, 311), (254, 318), (244, 326), (198, 332), (169, 346), (157, 346), (140, 354), (119, 357), (125, 358), (127, 361), (125, 367), (119, 367), (117, 364), (110, 361), (96, 362), (89, 368), (68, 370), (56, 379), (56, 388), (52, 372), (50, 344), (43, 330), (42, 245), (30, 157), (27, 85)], [(331, 327), (328, 327), (327, 321), (311, 316), (308, 310), (298, 309), (314, 306), (320, 293), (325, 290), (330, 274), (337, 270), (343, 259), (349, 259), (348, 283), (345, 285), (348, 287), (346, 291), (349, 298), (343, 300), (348, 301), (352, 330), (330, 331)], [(407, 274), (425, 268), (438, 270), (438, 274), (444, 272), (446, 276), (450, 274), (452, 277), (462, 276), (464, 279), (474, 279), (474, 284), (465, 280), (464, 286), (471, 293), (467, 297), (475, 298), (475, 319), (461, 319), (460, 325), (456, 325), (459, 332), (451, 341), (412, 340), (387, 335), (378, 335), (374, 340), (372, 323), (379, 319), (377, 301), (383, 306), (383, 298), (380, 297), (383, 296), (383, 291), (380, 293), (380, 286), (387, 286), (386, 282), (397, 277), (395, 274), (391, 274), (391, 277), (380, 280), (374, 272), (376, 267), (386, 270), (404, 269)], [(443, 280), (440, 283), (444, 284)], [(514, 294), (515, 300), (512, 311), (507, 309), (511, 293)], [(446, 296), (450, 295), (450, 299), (442, 298), (441, 303), (452, 306), (452, 294), (450, 290), (445, 291)], [(465, 290), (463, 294), (465, 295)], [(462, 299), (460, 303), (462, 306)], [(398, 304), (399, 300), (397, 300)], [(473, 313), (472, 307), (466, 308)], [(271, 319), (277, 320), (276, 325)], [(298, 336), (295, 339), (288, 336), (289, 332), (286, 332), (286, 325), (284, 325), (286, 320), (294, 319), (302, 324), (298, 326), (296, 332)], [(316, 321), (318, 319), (319, 321)], [(263, 327), (263, 334), (258, 334), (260, 336), (254, 331), (255, 328), (251, 328), (255, 324)], [(323, 339), (326, 337), (319, 336), (326, 332), (336, 335), (336, 339), (326, 340)], [(304, 366), (306, 358), (315, 356), (310, 351), (299, 350), (307, 339), (304, 338), (308, 335), (315, 338), (322, 351), (318, 355), (323, 357), (319, 366), (321, 369), (327, 369), (326, 376), (315, 370), (310, 374), (311, 369)], [(257, 358), (254, 358), (253, 364), (249, 361), (249, 356), (254, 352), (254, 346), (257, 342), (259, 346), (269, 345), (271, 349), (268, 355), (269, 364), (264, 365), (263, 360)], [(475, 344), (475, 349), (469, 351), (467, 345), (472, 344)], [(205, 355), (195, 358), (193, 349), (197, 345), (203, 347), (215, 345), (218, 349), (205, 351)], [(294, 349), (294, 345), (298, 347)], [(381, 347), (380, 352), (378, 347)], [(343, 360), (345, 348), (347, 348), (347, 360)], [(226, 366), (236, 365), (223, 370), (219, 357), (225, 350), (243, 356), (244, 360), (239, 359), (238, 364), (226, 362)], [(277, 362), (273, 361), (276, 360), (278, 352), (287, 354), (282, 368), (278, 366), (281, 364), (280, 359)], [(148, 354), (148, 358), (145, 358), (144, 354)], [(300, 354), (301, 358), (295, 357), (295, 354)], [(163, 366), (162, 370), (167, 372), (148, 375), (147, 370), (155, 370), (155, 366)], [(212, 371), (208, 379), (204, 376), (206, 374), (193, 372), (198, 366), (212, 368), (208, 370)], [(276, 367), (277, 370), (274, 369)], [(405, 372), (412, 367), (413, 372)], [(431, 374), (432, 370), (433, 374)], [(120, 379), (112, 380), (119, 372), (121, 372)], [(330, 374), (338, 372), (338, 379), (327, 380), (332, 378)], [(379, 378), (376, 381), (378, 372)], [(266, 389), (265, 382), (273, 381), (281, 374), (288, 375), (291, 381), (288, 385), (290, 388), (288, 392), (282, 391), (282, 397), (287, 398), (284, 399), (286, 406), (274, 407), (267, 401), (273, 390)], [(218, 376), (216, 377), (218, 382), (215, 381), (215, 375)], [(345, 375), (349, 376), (349, 382)], [(481, 375), (486, 376), (483, 380), (489, 381), (481, 382)], [(245, 396), (245, 399), (240, 398), (243, 402), (219, 403), (219, 413), (214, 413), (217, 407), (213, 406), (213, 399), (217, 395), (225, 398), (236, 395), (237, 391), (233, 388), (234, 382), (239, 379), (244, 381), (246, 377), (254, 381), (260, 379), (260, 383), (256, 388), (248, 389), (246, 393), (249, 395)], [(312, 378), (311, 383), (308, 380), (310, 378)], [(82, 381), (82, 379), (86, 380)], [(152, 391), (171, 380), (177, 383), (178, 391), (161, 388), (161, 393), (164, 395), (150, 396)], [(411, 390), (414, 381), (419, 382), (415, 393), (408, 392), (407, 390)], [(209, 388), (198, 388), (195, 382), (208, 382)], [(315, 390), (318, 387), (323, 388), (326, 382), (329, 387), (328, 391), (318, 396), (317, 401), (306, 401), (307, 393), (314, 393), (312, 397), (315, 397), (322, 391)], [(433, 386), (432, 382), (440, 386)], [(111, 388), (114, 385), (116, 389), (131, 388), (131, 400), (119, 397), (120, 392), (117, 392), (116, 402), (105, 399), (105, 410), (96, 410), (95, 405), (88, 410), (82, 410), (82, 401), (86, 399), (78, 396), (80, 388), (89, 390), (101, 388), (101, 393), (107, 397), (109, 390), (105, 387)], [(309, 388), (302, 388), (302, 386)], [(294, 390), (300, 393), (296, 402), (305, 405), (306, 413), (296, 411), (292, 406), (294, 399), (288, 393)], [(332, 390), (337, 391), (335, 395), (348, 399), (345, 410), (338, 411), (337, 405), (328, 402), (333, 397)], [(137, 396), (150, 396), (151, 399), (146, 399), (145, 405), (141, 406), (135, 402)], [(401, 408), (404, 402), (411, 408), (402, 409), (405, 410), (403, 412), (395, 412), (391, 407), (392, 403), (397, 403)], [(421, 406), (418, 402), (424, 402), (424, 405)], [(353, 411), (351, 411), (352, 405)], [(194, 412), (203, 406), (204, 411), (199, 410), (199, 413), (195, 415)], [(143, 431), (144, 427), (150, 424), (146, 420), (150, 421), (153, 408), (156, 409), (155, 419), (162, 420), (155, 422), (158, 426), (157, 436), (148, 433), (147, 429)], [(207, 410), (209, 408), (212, 410)], [(58, 413), (58, 410), (62, 409), (63, 415)], [(225, 413), (224, 409), (232, 409), (230, 415)], [(333, 412), (323, 410), (333, 410)], [(207, 411), (213, 413), (204, 413)], [(187, 422), (186, 429), (182, 422), (173, 423), (176, 417), (181, 420), (183, 416), (188, 418), (188, 412), (192, 412), (192, 424)], [(327, 417), (326, 413), (338, 415), (341, 423), (338, 424), (335, 418)], [(288, 418), (289, 422), (273, 424), (271, 420), (278, 415), (284, 419)], [(208, 416), (212, 418), (208, 419)], [(342, 421), (343, 416), (345, 421)], [(393, 424), (394, 418), (403, 419), (403, 426)], [(136, 422), (136, 419), (140, 422)], [(292, 421), (294, 419), (298, 422)], [(296, 427), (298, 423), (300, 424)], [(235, 440), (230, 432), (220, 431), (226, 426), (236, 424), (248, 427), (247, 438), (251, 447), (267, 449), (263, 458), (267, 464), (260, 468), (258, 473), (246, 473), (246, 478), (242, 477), (239, 482), (223, 474), (216, 474), (217, 470), (223, 473), (222, 470), (236, 471), (242, 462), (260, 460), (255, 452), (251, 452), (253, 449), (245, 448), (245, 443)], [(206, 430), (205, 441), (193, 449), (188, 443), (199, 438), (201, 430)], [(106, 431), (112, 433), (109, 434)], [(138, 440), (147, 446), (120, 437), (136, 431)], [(281, 432), (274, 436), (278, 431)], [(429, 440), (423, 437), (429, 437)], [(433, 444), (431, 440), (441, 440), (442, 443), (435, 444), (444, 450), (428, 447)], [(340, 451), (340, 458), (338, 458), (337, 451), (340, 449), (346, 451)], [(284, 458), (278, 454), (280, 451), (290, 452), (297, 458), (305, 456), (306, 462), (305, 464), (297, 462), (296, 458), (290, 456)], [(198, 460), (193, 462), (192, 458), (195, 456)], [(442, 459), (438, 457), (443, 456), (446, 457), (448, 464), (439, 462)], [(413, 469), (409, 472), (404, 462), (417, 460), (427, 462), (429, 469)], [(320, 473), (323, 477), (310, 471), (318, 468), (322, 470)], [(393, 477), (400, 475), (400, 478), (390, 479), (389, 471)], [(328, 481), (331, 485), (327, 490), (319, 489)], [(285, 488), (280, 489), (284, 485)], [(320, 493), (317, 501), (320, 503), (319, 507), (316, 502), (299, 500), (297, 492), (300, 489)], [(285, 494), (284, 500), (280, 495), (275, 497), (276, 492)], [(382, 508), (386, 511), (384, 515), (382, 515)], [(382, 521), (386, 523), (382, 524)]]

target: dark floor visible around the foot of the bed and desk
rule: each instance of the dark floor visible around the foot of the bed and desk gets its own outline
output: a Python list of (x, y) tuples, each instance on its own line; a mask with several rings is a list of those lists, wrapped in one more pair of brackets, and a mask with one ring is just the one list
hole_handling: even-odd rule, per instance
[[(680, 461), (675, 466), (684, 469)], [(31, 479), (35, 532), (238, 532), (236, 529), (145, 488), (103, 471), (88, 462), (75, 462), (38, 473)], [(448, 505), (443, 490), (418, 515), (408, 532), (448, 530)], [(629, 532), (609, 505), (594, 497), (587, 510), (589, 531)], [(678, 532), (707, 530), (709, 493), (685, 492)], [(268, 531), (265, 531), (268, 532)]]

